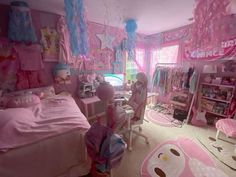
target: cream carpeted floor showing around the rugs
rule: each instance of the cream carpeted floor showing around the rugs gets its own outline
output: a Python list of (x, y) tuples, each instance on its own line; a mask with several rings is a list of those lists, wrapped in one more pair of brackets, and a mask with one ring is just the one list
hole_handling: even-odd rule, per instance
[[(164, 141), (176, 139), (178, 137), (186, 137), (194, 140), (204, 148), (197, 140), (197, 137), (215, 137), (216, 130), (214, 128), (199, 128), (191, 125), (178, 127), (163, 127), (152, 122), (145, 122), (142, 126), (143, 133), (149, 137), (150, 144), (146, 144), (143, 138), (133, 138), (133, 151), (126, 151), (121, 164), (113, 169), (113, 177), (140, 177), (141, 165), (146, 156), (154, 150), (154, 148)], [(236, 144), (236, 140), (232, 140)], [(227, 144), (231, 147), (232, 144)], [(210, 152), (207, 152), (213, 159), (217, 168), (223, 170), (229, 177), (235, 177), (236, 171), (221, 163)]]

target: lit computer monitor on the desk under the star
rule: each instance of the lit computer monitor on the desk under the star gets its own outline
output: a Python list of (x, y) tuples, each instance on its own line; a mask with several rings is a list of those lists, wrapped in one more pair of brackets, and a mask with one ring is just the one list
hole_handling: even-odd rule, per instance
[(104, 74), (104, 79), (113, 87), (121, 87), (124, 84), (124, 74)]

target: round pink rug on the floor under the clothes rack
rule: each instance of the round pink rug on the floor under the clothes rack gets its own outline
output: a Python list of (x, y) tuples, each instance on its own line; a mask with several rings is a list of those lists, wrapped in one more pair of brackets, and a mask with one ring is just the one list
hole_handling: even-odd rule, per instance
[(152, 109), (146, 110), (146, 118), (157, 125), (166, 127), (174, 126), (171, 122), (173, 120), (172, 115), (160, 113)]

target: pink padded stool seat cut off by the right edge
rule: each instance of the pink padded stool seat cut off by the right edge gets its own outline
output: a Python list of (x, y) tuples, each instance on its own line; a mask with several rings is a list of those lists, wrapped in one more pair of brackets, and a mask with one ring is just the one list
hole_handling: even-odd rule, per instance
[(236, 120), (221, 119), (216, 122), (216, 128), (227, 136), (236, 138)]

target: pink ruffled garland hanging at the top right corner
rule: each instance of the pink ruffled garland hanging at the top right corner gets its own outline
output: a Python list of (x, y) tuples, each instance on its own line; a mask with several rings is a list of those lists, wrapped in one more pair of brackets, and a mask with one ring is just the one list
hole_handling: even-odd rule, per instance
[(225, 37), (220, 20), (227, 14), (230, 0), (196, 0), (192, 26), (192, 47), (218, 46)]

